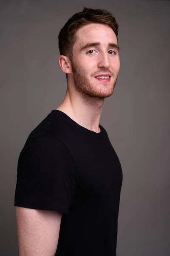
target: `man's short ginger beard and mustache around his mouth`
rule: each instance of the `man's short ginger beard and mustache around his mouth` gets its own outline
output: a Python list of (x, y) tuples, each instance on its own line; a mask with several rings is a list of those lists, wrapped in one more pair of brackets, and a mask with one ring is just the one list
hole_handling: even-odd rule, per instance
[(88, 79), (88, 72), (83, 68), (78, 68), (76, 65), (74, 65), (73, 61), (71, 61), (71, 66), (75, 89), (83, 96), (104, 99), (110, 97), (113, 94), (119, 71), (117, 73), (111, 73), (110, 70), (103, 69), (97, 73), (91, 74), (91, 79), (95, 79), (94, 77), (99, 75), (99, 73), (110, 73), (112, 79), (114, 78), (112, 84), (111, 82), (109, 84), (101, 82), (100, 86), (97, 81), (96, 84), (91, 83), (90, 79)]

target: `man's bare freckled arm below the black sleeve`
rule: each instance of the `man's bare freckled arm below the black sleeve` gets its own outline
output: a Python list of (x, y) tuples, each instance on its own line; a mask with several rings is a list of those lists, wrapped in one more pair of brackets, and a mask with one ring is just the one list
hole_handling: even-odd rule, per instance
[(19, 256), (54, 256), (62, 213), (16, 207)]

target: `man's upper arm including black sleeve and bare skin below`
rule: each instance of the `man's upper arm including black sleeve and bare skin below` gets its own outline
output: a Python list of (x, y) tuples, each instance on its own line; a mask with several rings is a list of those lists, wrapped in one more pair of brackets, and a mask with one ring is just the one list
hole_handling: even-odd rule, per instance
[(18, 161), (15, 201), (20, 256), (54, 256), (62, 213), (68, 214), (75, 166), (53, 137), (26, 143)]

